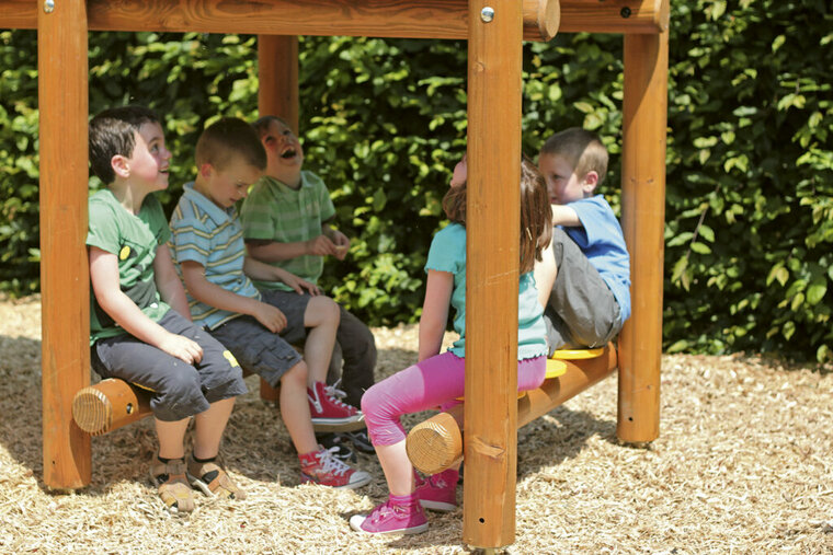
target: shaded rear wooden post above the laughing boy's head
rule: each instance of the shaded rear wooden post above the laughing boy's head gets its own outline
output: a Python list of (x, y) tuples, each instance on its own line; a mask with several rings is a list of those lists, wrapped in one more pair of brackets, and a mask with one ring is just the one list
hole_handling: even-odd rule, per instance
[(298, 131), (298, 37), (258, 35), (258, 111)]

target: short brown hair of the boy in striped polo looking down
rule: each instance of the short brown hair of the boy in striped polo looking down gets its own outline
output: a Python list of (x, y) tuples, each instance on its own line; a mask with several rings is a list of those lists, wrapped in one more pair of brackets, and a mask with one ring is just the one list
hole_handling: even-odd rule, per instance
[(266, 151), (254, 127), (239, 117), (224, 117), (209, 125), (196, 141), (196, 165), (225, 170), (236, 155), (259, 170), (266, 169)]

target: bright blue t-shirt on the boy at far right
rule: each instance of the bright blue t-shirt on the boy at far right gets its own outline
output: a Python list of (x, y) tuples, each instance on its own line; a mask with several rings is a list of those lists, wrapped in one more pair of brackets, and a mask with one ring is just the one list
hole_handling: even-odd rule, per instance
[(582, 198), (567, 206), (579, 215), (581, 227), (564, 227), (563, 230), (611, 288), (625, 322), (630, 316), (630, 255), (621, 226), (602, 195)]

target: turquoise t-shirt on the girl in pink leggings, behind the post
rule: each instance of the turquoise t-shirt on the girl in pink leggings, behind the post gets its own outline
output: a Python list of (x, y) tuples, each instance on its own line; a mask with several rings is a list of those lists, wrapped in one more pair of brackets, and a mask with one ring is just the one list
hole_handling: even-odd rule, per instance
[[(460, 338), (448, 349), (458, 357), (466, 356), (466, 228), (450, 223), (434, 235), (429, 250), (425, 271), (433, 269), (454, 275), (452, 307), (454, 331)], [(544, 324), (544, 309), (538, 303), (535, 279), (532, 271), (518, 279), (517, 299), (517, 359), (525, 360), (547, 354), (547, 328)]]

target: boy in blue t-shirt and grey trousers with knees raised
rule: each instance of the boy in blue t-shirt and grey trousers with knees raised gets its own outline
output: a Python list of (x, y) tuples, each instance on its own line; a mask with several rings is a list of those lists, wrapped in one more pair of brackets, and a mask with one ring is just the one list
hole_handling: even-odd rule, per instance
[(611, 205), (594, 195), (607, 149), (578, 127), (551, 136), (538, 157), (552, 204), (552, 242), (536, 264), (549, 354), (603, 347), (630, 316), (630, 255)]

